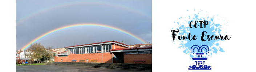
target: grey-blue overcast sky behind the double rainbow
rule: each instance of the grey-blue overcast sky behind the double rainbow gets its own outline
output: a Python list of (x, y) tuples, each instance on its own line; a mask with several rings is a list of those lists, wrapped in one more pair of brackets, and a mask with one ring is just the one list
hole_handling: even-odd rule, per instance
[[(84, 3), (76, 4), (78, 2)], [(16, 49), (20, 50), (48, 31), (77, 23), (114, 26), (145, 41), (151, 41), (151, 10), (151, 0), (17, 0)], [(19, 22), (21, 20), (23, 21)], [(100, 27), (69, 28), (52, 33), (37, 42), (53, 48), (63, 48), (73, 46), (74, 43), (82, 45), (112, 40), (125, 41), (127, 45), (142, 44), (124, 33)]]

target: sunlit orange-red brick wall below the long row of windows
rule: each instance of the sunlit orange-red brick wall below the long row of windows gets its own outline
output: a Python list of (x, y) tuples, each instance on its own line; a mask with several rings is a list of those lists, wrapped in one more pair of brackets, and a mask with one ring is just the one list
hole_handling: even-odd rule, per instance
[[(102, 58), (101, 55), (103, 55)], [(61, 59), (62, 62), (71, 62), (72, 60), (77, 60), (76, 62), (79, 62), (79, 60), (86, 59), (88, 59), (88, 62), (91, 60), (98, 60), (97, 63), (101, 63), (101, 59), (103, 59), (103, 63), (112, 63), (111, 53), (69, 54), (67, 57), (54, 57), (54, 62), (61, 62)]]

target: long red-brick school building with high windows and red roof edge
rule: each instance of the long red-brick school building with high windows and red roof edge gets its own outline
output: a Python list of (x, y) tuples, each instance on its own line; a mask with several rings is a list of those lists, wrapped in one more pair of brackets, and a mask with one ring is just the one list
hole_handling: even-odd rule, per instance
[(152, 64), (152, 46), (129, 48), (117, 41), (65, 47), (54, 62), (141, 63)]

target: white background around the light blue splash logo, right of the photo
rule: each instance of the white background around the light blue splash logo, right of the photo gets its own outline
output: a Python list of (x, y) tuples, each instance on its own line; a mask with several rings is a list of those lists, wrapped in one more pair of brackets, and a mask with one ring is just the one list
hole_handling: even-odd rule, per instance
[[(256, 72), (255, 29), (256, 4), (253, 1), (152, 1), (152, 39), (154, 72)], [(228, 22), (230, 40), (220, 42), (225, 52), (218, 52), (208, 58), (206, 65), (212, 70), (188, 70), (194, 65), (190, 57), (172, 43), (171, 30), (178, 28), (176, 19), (188, 16), (195, 9), (220, 14)], [(186, 10), (189, 10), (188, 12)], [(190, 14), (190, 16), (194, 14)], [(193, 18), (193, 17), (191, 17)], [(215, 21), (216, 22), (216, 21)], [(176, 33), (177, 34), (177, 33)], [(190, 62), (188, 62), (190, 61)], [(193, 62), (193, 63), (191, 63)]]

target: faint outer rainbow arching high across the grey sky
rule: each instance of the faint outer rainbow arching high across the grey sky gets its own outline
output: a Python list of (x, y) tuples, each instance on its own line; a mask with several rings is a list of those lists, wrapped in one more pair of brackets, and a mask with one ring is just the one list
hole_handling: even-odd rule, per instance
[(41, 10), (38, 10), (32, 14), (29, 14), (23, 18), (20, 18), (18, 21), (17, 21), (17, 26), (24, 22), (24, 21), (27, 21), (28, 19), (30, 18), (33, 18), (35, 17), (36, 15), (39, 15), (41, 13), (45, 13), (45, 12), (48, 12), (50, 10), (54, 10), (54, 9), (57, 9), (57, 8), (62, 8), (62, 7), (65, 7), (65, 6), (71, 6), (71, 5), (81, 5), (81, 4), (99, 4), (99, 5), (108, 5), (108, 6), (115, 6), (115, 7), (119, 7), (121, 9), (125, 9), (125, 10), (128, 10), (130, 12), (133, 12), (133, 13), (136, 13), (136, 14), (139, 14), (139, 15), (145, 15), (146, 17), (149, 17), (151, 19), (151, 15), (149, 14), (146, 14), (145, 12), (142, 12), (138, 9), (135, 9), (135, 8), (131, 8), (129, 6), (125, 6), (125, 5), (120, 5), (120, 4), (115, 4), (115, 3), (109, 3), (109, 2), (105, 2), (105, 1), (73, 1), (73, 2), (68, 2), (68, 3), (62, 3), (62, 4), (57, 4), (57, 5), (53, 5), (53, 6), (49, 6), (47, 8), (44, 8), (44, 9), (41, 9)]

